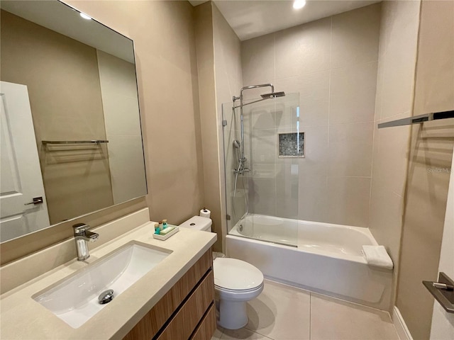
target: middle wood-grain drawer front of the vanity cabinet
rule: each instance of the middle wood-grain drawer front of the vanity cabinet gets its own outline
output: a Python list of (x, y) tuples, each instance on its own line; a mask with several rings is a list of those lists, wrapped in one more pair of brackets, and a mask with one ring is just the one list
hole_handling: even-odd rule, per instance
[(157, 340), (187, 340), (214, 301), (213, 271), (194, 290)]

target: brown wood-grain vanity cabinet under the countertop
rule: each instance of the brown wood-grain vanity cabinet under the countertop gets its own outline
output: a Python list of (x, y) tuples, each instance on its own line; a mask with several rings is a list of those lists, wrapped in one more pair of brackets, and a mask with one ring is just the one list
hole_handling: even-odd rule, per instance
[(209, 340), (216, 329), (211, 250), (123, 338)]

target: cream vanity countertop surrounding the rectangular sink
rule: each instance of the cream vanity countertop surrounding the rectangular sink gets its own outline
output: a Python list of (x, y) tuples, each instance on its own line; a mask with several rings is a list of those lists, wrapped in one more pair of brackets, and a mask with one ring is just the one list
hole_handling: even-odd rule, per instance
[[(216, 241), (214, 233), (185, 228), (160, 241), (153, 239), (153, 226), (145, 223), (94, 249), (87, 261), (74, 259), (1, 295), (1, 339), (122, 339)], [(36, 293), (131, 241), (172, 253), (81, 327), (70, 327), (33, 300)]]

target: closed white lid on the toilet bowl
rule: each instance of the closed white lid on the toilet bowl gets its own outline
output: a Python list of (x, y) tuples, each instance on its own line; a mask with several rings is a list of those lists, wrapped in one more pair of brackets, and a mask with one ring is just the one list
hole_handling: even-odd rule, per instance
[(252, 264), (238, 259), (217, 258), (213, 262), (214, 284), (231, 290), (250, 290), (263, 283), (263, 274)]

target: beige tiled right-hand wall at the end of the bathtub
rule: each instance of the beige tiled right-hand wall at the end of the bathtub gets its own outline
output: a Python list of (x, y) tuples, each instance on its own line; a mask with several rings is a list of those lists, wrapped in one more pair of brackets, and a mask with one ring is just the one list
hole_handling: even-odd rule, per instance
[(370, 231), (394, 261), (394, 304), (402, 234), (409, 128), (377, 129), (411, 115), (419, 1), (384, 1), (380, 25), (372, 157)]

